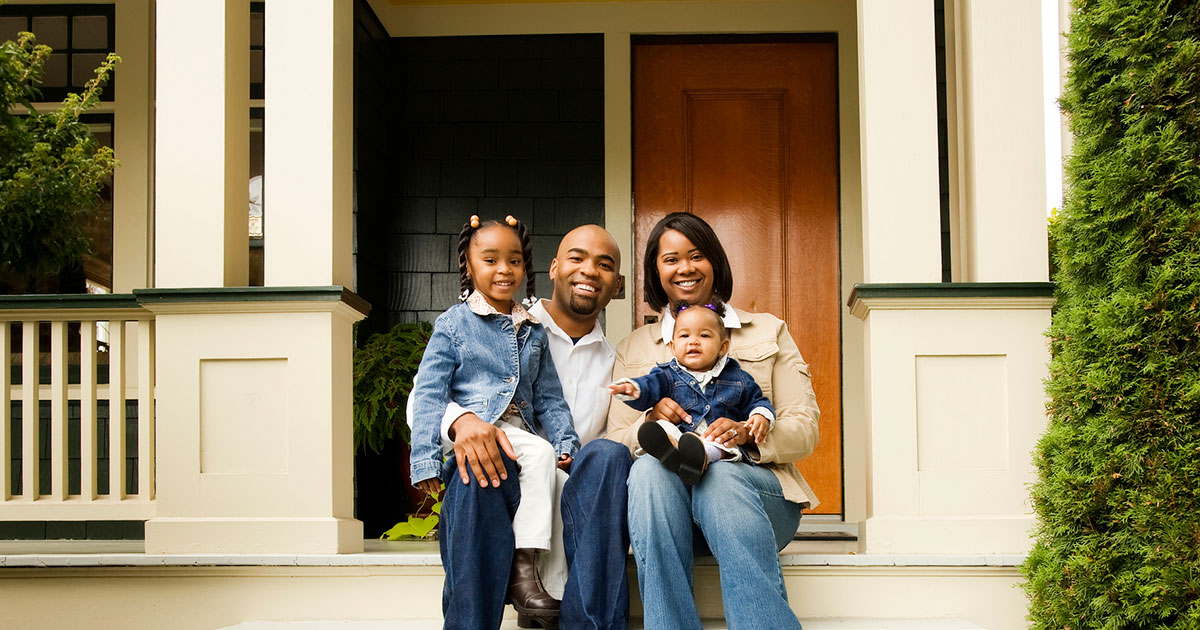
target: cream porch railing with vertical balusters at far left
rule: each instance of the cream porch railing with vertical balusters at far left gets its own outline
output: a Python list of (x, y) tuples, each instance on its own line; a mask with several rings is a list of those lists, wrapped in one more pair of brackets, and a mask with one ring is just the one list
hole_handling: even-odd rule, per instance
[(0, 296), (0, 521), (154, 516), (154, 343), (133, 295)]

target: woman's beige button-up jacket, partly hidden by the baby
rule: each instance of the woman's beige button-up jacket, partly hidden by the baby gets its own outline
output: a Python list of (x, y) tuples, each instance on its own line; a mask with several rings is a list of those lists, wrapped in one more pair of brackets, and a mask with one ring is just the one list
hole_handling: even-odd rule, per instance
[[(779, 478), (787, 500), (816, 508), (817, 498), (794, 462), (812, 454), (817, 445), (817, 400), (812, 392), (809, 366), (800, 356), (787, 324), (769, 313), (734, 310), (742, 328), (730, 329), (730, 355), (742, 364), (775, 406), (775, 426), (764, 444), (750, 458), (769, 468)], [(617, 344), (613, 382), (648, 373), (656, 364), (671, 359), (662, 342), (662, 324), (644, 325)], [(637, 449), (637, 428), (643, 414), (613, 398), (608, 407), (607, 438)]]

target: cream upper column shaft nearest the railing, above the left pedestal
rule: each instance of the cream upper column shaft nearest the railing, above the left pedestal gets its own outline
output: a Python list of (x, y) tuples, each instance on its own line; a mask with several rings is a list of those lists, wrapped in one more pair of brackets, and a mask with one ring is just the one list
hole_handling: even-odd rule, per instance
[(250, 11), (241, 0), (155, 11), (155, 283), (245, 286)]

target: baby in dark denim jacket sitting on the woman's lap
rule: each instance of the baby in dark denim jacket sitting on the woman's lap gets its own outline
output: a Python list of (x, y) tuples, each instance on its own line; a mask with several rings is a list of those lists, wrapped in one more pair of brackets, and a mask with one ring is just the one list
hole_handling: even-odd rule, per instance
[(738, 449), (698, 436), (709, 422), (720, 418), (744, 421), (755, 443), (762, 444), (775, 421), (775, 409), (754, 378), (727, 356), (730, 331), (721, 319), (725, 305), (720, 300), (676, 302), (672, 312), (676, 323), (670, 346), (674, 359), (644, 377), (623, 378), (608, 390), (640, 412), (666, 397), (688, 412), (689, 420), (678, 426), (667, 420), (642, 424), (637, 440), (684, 484), (694, 485), (710, 462), (743, 457)]

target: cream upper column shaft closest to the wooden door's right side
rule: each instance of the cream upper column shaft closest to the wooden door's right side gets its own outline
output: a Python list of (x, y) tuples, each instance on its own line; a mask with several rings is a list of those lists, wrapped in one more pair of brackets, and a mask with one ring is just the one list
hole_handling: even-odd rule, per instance
[(934, 4), (858, 0), (866, 282), (938, 282)]

